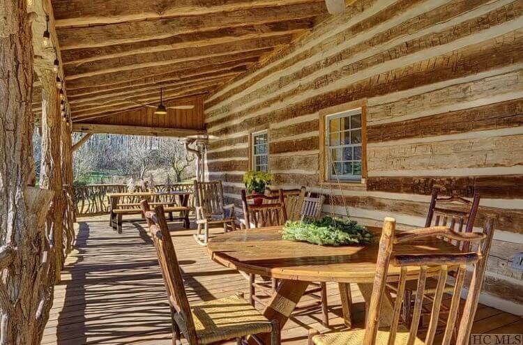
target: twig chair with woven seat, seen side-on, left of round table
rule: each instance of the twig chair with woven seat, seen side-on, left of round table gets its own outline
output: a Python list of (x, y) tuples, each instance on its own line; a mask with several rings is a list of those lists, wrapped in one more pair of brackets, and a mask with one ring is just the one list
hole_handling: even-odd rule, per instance
[(178, 344), (181, 335), (190, 345), (196, 345), (215, 344), (248, 335), (256, 339), (255, 335), (258, 333), (271, 333), (271, 344), (280, 344), (278, 321), (268, 321), (241, 294), (190, 306), (162, 206), (151, 211), (147, 201), (142, 201), (142, 210), (156, 247), (167, 289), (174, 345)]

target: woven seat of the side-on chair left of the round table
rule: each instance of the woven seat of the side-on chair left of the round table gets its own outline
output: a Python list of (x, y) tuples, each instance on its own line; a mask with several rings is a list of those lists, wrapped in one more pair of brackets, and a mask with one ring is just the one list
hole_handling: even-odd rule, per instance
[(203, 302), (191, 309), (201, 344), (271, 332), (265, 316), (239, 296)]

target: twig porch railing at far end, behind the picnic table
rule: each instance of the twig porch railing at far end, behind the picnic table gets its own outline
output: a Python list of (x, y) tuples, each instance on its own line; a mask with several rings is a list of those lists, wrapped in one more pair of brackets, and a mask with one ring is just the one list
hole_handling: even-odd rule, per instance
[[(192, 183), (174, 183), (155, 185), (155, 192), (170, 192), (174, 190), (192, 190)], [(109, 213), (108, 193), (127, 192), (127, 185), (123, 184), (98, 184), (98, 185), (75, 185), (74, 202), (76, 215), (78, 217), (104, 215)], [(139, 192), (142, 187), (137, 186), (135, 191)], [(194, 206), (192, 195), (189, 197), (189, 206)]]

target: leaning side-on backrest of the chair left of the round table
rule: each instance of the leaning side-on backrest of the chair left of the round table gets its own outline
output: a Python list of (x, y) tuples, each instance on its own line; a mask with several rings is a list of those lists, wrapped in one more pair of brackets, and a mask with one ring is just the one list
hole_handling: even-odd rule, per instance
[(163, 206), (160, 205), (154, 208), (154, 210), (150, 210), (149, 203), (146, 200), (140, 204), (156, 247), (158, 263), (160, 263), (162, 270), (162, 277), (174, 320), (179, 325), (185, 338), (188, 339), (189, 344), (197, 344), (195, 323), (192, 319), (189, 300), (183, 286), (183, 278), (165, 220)]

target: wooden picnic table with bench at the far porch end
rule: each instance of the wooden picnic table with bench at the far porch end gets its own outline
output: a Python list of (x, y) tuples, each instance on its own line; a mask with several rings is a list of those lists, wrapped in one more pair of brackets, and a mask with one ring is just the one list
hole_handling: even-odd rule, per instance
[[(109, 212), (109, 226), (116, 229), (118, 233), (122, 231), (123, 215), (142, 215), (142, 208), (140, 208), (139, 201), (151, 200), (151, 206), (164, 206), (165, 213), (169, 213), (170, 220), (183, 220), (185, 229), (190, 227), (189, 213), (194, 208), (188, 206), (188, 199), (192, 192), (190, 191), (174, 191), (165, 193), (154, 192), (137, 192), (137, 193), (110, 193), (107, 194), (109, 198), (109, 205), (111, 206)], [(173, 197), (178, 197), (179, 201), (175, 201)], [(162, 201), (161, 199), (169, 199)], [(179, 213), (179, 217), (173, 217), (173, 213)]]

